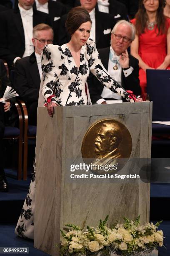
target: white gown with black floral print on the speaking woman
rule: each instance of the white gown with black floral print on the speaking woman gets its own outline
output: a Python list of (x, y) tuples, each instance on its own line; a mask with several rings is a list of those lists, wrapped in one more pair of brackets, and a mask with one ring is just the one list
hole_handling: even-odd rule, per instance
[[(91, 71), (99, 81), (115, 93), (125, 97), (128, 93), (108, 74), (103, 67), (95, 43), (89, 39), (80, 51), (80, 67), (77, 68), (67, 44), (49, 44), (42, 53), (42, 79), (40, 90), (45, 102), (65, 105), (88, 105), (86, 81)], [(23, 238), (34, 238), (35, 172), (20, 214), (15, 234)]]

